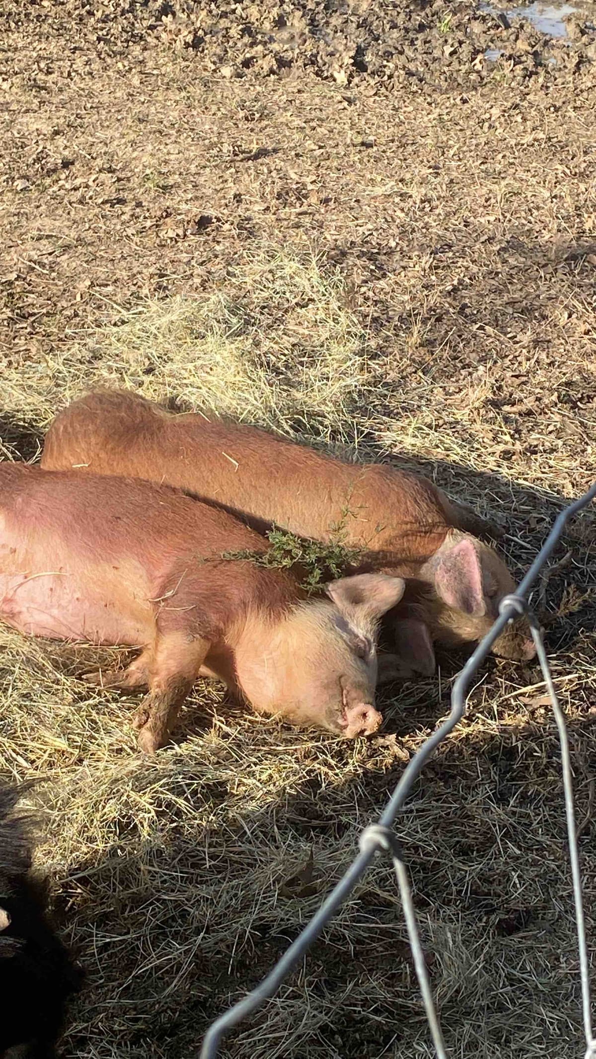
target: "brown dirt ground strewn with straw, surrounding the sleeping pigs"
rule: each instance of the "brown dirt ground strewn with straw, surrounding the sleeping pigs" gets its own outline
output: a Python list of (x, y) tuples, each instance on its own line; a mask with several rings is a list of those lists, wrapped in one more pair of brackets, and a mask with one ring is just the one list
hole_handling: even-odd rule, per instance
[[(501, 519), (520, 574), (596, 477), (593, 10), (561, 41), (441, 0), (11, 0), (2, 19), (4, 457), (36, 459), (85, 387), (126, 383), (420, 466)], [(539, 600), (593, 944), (594, 525)], [(62, 1051), (177, 1059), (345, 868), (460, 659), (385, 693), (385, 731), (355, 746), (198, 686), (143, 761), (136, 699), (91, 694), (88, 656), (1, 633), (0, 767), (40, 780), (38, 861), (88, 974)], [(453, 1056), (583, 1054), (543, 694), (536, 664), (491, 661), (398, 828)], [(431, 1055), (389, 868), (223, 1055)]]

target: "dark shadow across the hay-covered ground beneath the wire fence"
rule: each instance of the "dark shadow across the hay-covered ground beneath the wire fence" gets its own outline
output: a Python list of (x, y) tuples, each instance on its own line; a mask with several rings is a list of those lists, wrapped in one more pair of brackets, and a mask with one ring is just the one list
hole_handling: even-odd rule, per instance
[[(526, 1042), (550, 1054), (559, 1023), (567, 1037), (574, 1026), (579, 1046), (560, 751), (548, 710), (524, 713), (503, 718), (492, 734), (465, 722), (425, 770), (396, 826), (448, 1044), (456, 1052), (473, 1042), (466, 1054), (494, 1046), (505, 1055), (522, 1028)], [(595, 724), (585, 716), (570, 725), (586, 879), (596, 870)], [(165, 778), (174, 790), (158, 809), (155, 834), (121, 819), (122, 839), (71, 863), (58, 884), (56, 908), (88, 974), (65, 1054), (91, 1054), (91, 1025), (104, 1026), (100, 1054), (198, 1054), (209, 1023), (272, 967), (355, 856), (359, 831), (378, 816), (403, 768), (378, 765), (372, 749), (353, 780), (329, 787), (322, 770), (265, 809), (242, 812), (229, 769), (199, 788), (192, 758), (178, 760), (176, 776), (171, 760), (158, 759), (152, 787)], [(139, 795), (146, 780), (140, 765), (131, 775)], [(193, 812), (200, 823), (193, 825)], [(592, 937), (590, 908), (588, 930)], [(281, 999), (242, 1024), (221, 1054), (236, 1055), (252, 1035), (259, 1057), (284, 1046), (289, 1056), (307, 1047), (357, 1059), (392, 1044), (397, 1056), (426, 1039), (422, 1024), (397, 887), (380, 864)]]

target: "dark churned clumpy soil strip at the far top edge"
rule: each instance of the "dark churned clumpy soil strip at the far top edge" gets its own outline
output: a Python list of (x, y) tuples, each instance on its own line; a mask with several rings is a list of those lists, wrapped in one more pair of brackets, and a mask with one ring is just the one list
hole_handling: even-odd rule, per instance
[(348, 86), (366, 79), (472, 87), (500, 64), (518, 80), (546, 70), (550, 77), (573, 72), (593, 76), (596, 33), (585, 13), (570, 22), (568, 40), (552, 39), (528, 21), (448, 0), (376, 4), (371, 0), (300, 0), (296, 3), (236, 3), (234, 0), (50, 0), (17, 4), (8, 26), (30, 21), (65, 36), (80, 35), (101, 53), (124, 55), (130, 46), (191, 52), (204, 73), (223, 77), (277, 76), (309, 70)]

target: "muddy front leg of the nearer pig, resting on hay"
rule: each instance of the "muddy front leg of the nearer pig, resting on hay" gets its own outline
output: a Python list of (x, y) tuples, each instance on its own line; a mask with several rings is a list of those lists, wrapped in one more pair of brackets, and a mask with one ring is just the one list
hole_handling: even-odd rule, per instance
[(149, 694), (132, 721), (143, 753), (155, 754), (167, 742), (210, 646), (209, 641), (193, 640), (184, 632), (158, 632), (149, 669)]

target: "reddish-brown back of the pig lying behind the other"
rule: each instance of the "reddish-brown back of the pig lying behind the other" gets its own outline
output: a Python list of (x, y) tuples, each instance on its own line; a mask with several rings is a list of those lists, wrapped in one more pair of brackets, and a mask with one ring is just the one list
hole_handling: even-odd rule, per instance
[(166, 482), (259, 533), (276, 523), (355, 548), (397, 548), (397, 556), (387, 555), (390, 566), (408, 556), (427, 558), (448, 526), (445, 498), (426, 479), (381, 464), (345, 463), (212, 413), (171, 414), (119, 391), (90, 394), (61, 412), (48, 433), (42, 465)]

